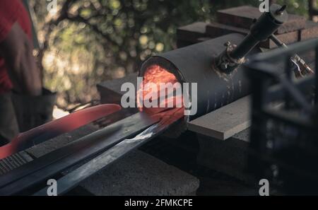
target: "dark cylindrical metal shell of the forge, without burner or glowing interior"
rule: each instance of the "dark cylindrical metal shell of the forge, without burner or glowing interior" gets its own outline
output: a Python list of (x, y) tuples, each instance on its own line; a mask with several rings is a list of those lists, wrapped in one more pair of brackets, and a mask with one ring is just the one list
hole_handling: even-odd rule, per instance
[[(231, 74), (211, 67), (212, 58), (225, 50), (225, 42), (238, 45), (243, 39), (244, 35), (233, 33), (151, 57), (141, 66), (139, 76), (150, 66), (159, 65), (175, 74), (180, 83), (197, 83), (197, 112), (189, 116), (190, 120), (195, 119), (250, 93), (247, 77), (240, 66)], [(250, 54), (257, 52), (259, 49), (253, 49)], [(189, 86), (191, 91), (191, 84)], [(189, 96), (192, 94), (190, 92)]]

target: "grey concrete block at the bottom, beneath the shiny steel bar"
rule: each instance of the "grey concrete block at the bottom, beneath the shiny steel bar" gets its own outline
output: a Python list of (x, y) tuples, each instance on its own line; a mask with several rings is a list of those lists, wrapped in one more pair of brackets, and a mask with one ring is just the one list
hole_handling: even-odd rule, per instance
[(134, 151), (81, 184), (95, 195), (193, 195), (199, 180), (153, 156)]

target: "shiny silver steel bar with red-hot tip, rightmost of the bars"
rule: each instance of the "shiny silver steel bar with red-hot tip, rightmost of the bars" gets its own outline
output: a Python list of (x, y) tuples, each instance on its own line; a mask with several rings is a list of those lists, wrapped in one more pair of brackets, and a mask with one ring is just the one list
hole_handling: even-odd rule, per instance
[[(85, 180), (91, 175), (94, 175), (99, 170), (106, 168), (108, 165), (119, 160), (119, 158), (122, 158), (130, 151), (133, 151), (143, 144), (146, 144), (147, 141), (153, 139), (155, 136), (163, 132), (182, 117), (182, 109), (175, 109), (165, 112), (165, 115), (158, 124), (153, 124), (153, 126), (141, 132), (141, 134), (138, 134), (133, 139), (125, 139), (124, 141), (121, 141), (119, 144), (108, 149), (100, 156), (93, 158), (93, 160), (57, 180), (57, 185), (59, 186), (57, 187), (57, 194), (61, 195), (69, 192), (69, 190), (73, 189), (73, 187), (76, 187), (76, 185), (78, 185), (78, 183), (81, 181)], [(47, 195), (47, 187), (44, 187), (34, 195)]]

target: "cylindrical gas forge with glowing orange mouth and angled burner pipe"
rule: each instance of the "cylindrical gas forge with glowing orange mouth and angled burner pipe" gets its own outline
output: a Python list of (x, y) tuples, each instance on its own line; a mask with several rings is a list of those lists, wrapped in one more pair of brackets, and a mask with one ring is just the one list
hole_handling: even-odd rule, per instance
[[(137, 92), (138, 104), (141, 105), (142, 100), (149, 100), (153, 96), (151, 100), (155, 100), (154, 104), (158, 104), (159, 108), (147, 107), (141, 108), (141, 110), (160, 112), (163, 109), (160, 109), (160, 104), (166, 105), (167, 103), (173, 104), (175, 107), (181, 103), (185, 110), (196, 105), (191, 115), (186, 117), (192, 120), (249, 95), (251, 92), (249, 81), (241, 65), (247, 62), (249, 54), (261, 52), (257, 45), (264, 40), (271, 39), (277, 45), (287, 47), (273, 35), (281, 25), (288, 21), (288, 13), (285, 8), (286, 6), (272, 4), (269, 12), (263, 13), (258, 20), (254, 20), (247, 36), (232, 33), (189, 47), (175, 49), (146, 60), (139, 71), (139, 76), (143, 77), (144, 89), (139, 88)], [(300, 71), (304, 74), (304, 69), (307, 69), (307, 73), (310, 72), (309, 67), (303, 65), (305, 62), (297, 55), (290, 60), (290, 64), (295, 69), (295, 75), (299, 76)], [(304, 66), (306, 68), (303, 68)], [(177, 94), (173, 95), (167, 91), (160, 91), (163, 89), (160, 86), (161, 83), (171, 85), (195, 83), (197, 86), (195, 90), (193, 86), (182, 90), (189, 91), (187, 94), (180, 94), (178, 92), (180, 86), (176, 86)], [(148, 87), (145, 88), (146, 86)], [(149, 86), (154, 88), (149, 88)], [(158, 91), (166, 93), (166, 95), (161, 95), (165, 100), (156, 101), (160, 94), (153, 92)]]

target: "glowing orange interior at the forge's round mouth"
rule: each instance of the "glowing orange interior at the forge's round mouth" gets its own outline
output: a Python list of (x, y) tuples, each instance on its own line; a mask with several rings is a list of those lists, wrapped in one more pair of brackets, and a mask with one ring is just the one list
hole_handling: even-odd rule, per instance
[[(146, 88), (147, 84), (153, 83), (155, 85), (155, 88)], [(158, 107), (144, 107), (143, 102), (145, 100), (149, 100), (149, 93), (152, 91), (157, 91), (158, 93), (155, 95), (158, 95), (158, 98), (150, 98), (153, 99), (159, 99), (160, 97), (160, 83), (172, 83), (172, 85), (175, 85), (175, 83), (178, 83), (177, 78), (174, 74), (171, 74), (169, 71), (164, 69), (163, 67), (159, 65), (153, 65), (148, 67), (145, 74), (143, 75), (143, 83), (141, 83), (141, 86), (139, 87), (139, 91), (137, 91), (137, 103), (139, 104), (139, 110), (148, 112), (148, 113), (159, 113), (163, 112), (167, 109), (170, 109), (170, 107), (167, 107), (168, 103), (173, 102), (174, 107), (183, 107), (183, 98), (181, 95), (175, 95), (170, 93), (170, 97), (167, 97), (169, 93), (167, 93), (167, 90), (165, 91), (165, 100), (160, 101), (158, 100)], [(143, 95), (143, 101), (141, 101), (140, 95)], [(147, 97), (148, 96), (148, 97)], [(179, 103), (182, 103), (181, 105)]]

